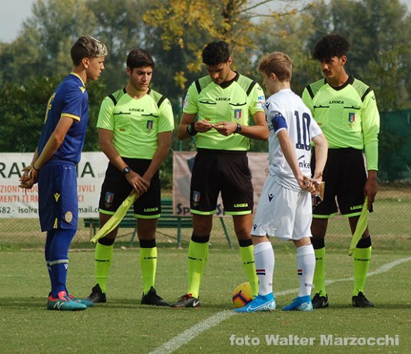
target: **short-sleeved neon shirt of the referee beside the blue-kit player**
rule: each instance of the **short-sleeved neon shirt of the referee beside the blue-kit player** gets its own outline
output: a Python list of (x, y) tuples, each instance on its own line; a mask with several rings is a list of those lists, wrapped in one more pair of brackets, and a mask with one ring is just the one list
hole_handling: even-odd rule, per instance
[(104, 98), (97, 127), (113, 130), (118, 154), (131, 159), (152, 159), (157, 151), (157, 135), (174, 130), (170, 101), (149, 89), (142, 98), (132, 98), (125, 89)]

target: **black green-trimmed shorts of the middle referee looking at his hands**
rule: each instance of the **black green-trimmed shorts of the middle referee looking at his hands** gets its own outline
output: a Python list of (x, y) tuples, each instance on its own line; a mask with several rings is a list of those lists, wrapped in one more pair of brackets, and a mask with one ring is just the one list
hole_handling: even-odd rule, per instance
[(225, 214), (252, 213), (254, 190), (247, 152), (198, 149), (191, 175), (191, 212), (215, 214), (220, 192)]

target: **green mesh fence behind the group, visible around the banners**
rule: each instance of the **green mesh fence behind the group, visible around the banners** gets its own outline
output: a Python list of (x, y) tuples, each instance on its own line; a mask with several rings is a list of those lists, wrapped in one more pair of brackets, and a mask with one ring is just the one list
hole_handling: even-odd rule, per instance
[[(41, 124), (33, 125), (33, 120), (25, 121), (25, 115), (19, 113), (18, 120), (7, 120), (4, 117), (9, 112), (16, 113), (16, 107), (0, 107), (0, 126), (1, 152), (30, 152), (35, 149), (40, 135)], [(97, 110), (91, 109), (91, 113)], [(91, 122), (95, 117), (91, 116)], [(96, 149), (96, 130), (91, 125), (87, 135), (89, 148)], [(14, 137), (14, 138), (13, 138)], [(25, 138), (26, 137), (26, 138)], [(192, 147), (186, 145), (183, 149)], [(173, 138), (172, 146), (179, 149), (179, 142)], [(266, 149), (266, 146), (256, 144), (254, 151)], [(370, 231), (373, 236), (373, 247), (380, 250), (411, 249), (411, 228), (409, 215), (411, 214), (411, 110), (403, 110), (393, 113), (381, 114), (381, 135), (379, 151), (380, 171), (378, 173), (380, 185), (379, 192), (374, 205), (374, 212), (370, 215)], [(164, 198), (171, 197), (171, 158), (163, 164), (162, 176), (164, 178)], [(1, 185), (0, 174), (0, 185)], [(97, 204), (96, 200), (96, 204)], [(225, 219), (227, 232), (232, 239), (232, 244), (237, 247), (235, 233), (230, 217)], [(130, 246), (130, 239), (133, 229), (120, 229), (117, 246)], [(347, 219), (336, 216), (330, 220), (326, 243), (331, 249), (348, 249), (351, 237)], [(84, 220), (79, 220), (79, 231), (74, 238), (72, 247), (91, 248), (89, 242), (90, 229), (84, 225)], [(187, 246), (191, 238), (191, 229), (181, 230), (181, 246)], [(32, 248), (42, 247), (45, 241), (45, 234), (40, 232), (38, 219), (2, 219), (0, 218), (0, 247), (5, 248)], [(172, 246), (177, 244), (176, 229), (159, 229), (157, 241), (160, 246)], [(277, 242), (277, 241), (276, 241)], [(213, 247), (228, 247), (225, 230), (218, 220), (215, 220), (213, 232), (210, 239)], [(134, 243), (133, 246), (137, 246)], [(287, 243), (279, 243), (278, 247), (288, 248)], [(292, 246), (292, 245), (291, 245)]]

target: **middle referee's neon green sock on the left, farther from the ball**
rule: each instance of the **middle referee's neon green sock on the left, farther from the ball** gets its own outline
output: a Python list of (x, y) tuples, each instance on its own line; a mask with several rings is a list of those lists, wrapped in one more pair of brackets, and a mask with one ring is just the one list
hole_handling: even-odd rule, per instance
[(188, 289), (187, 294), (198, 297), (205, 262), (208, 257), (208, 242), (190, 241), (188, 246)]

